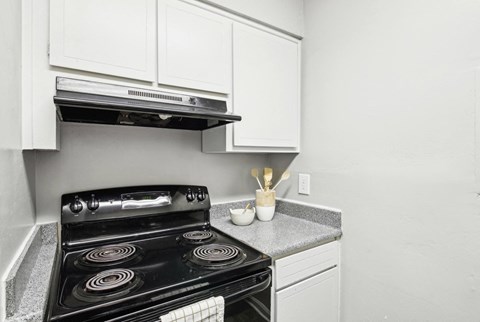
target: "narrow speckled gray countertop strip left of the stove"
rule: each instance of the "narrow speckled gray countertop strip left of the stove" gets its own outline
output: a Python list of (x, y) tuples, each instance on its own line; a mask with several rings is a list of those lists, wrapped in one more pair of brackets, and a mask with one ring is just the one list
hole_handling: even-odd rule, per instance
[(43, 321), (58, 247), (56, 223), (38, 225), (5, 281), (6, 320)]

